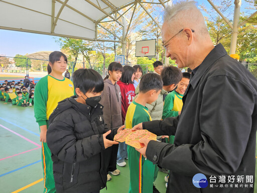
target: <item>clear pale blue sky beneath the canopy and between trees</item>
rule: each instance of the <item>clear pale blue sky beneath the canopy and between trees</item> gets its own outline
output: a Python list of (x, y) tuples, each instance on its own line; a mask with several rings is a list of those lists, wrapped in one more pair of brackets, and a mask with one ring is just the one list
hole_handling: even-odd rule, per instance
[[(203, 2), (206, 4), (204, 0), (197, 2), (198, 5)], [(54, 36), (0, 29), (0, 55), (14, 57), (16, 54), (25, 55), (38, 51), (60, 51), (60, 46), (55, 42)]]

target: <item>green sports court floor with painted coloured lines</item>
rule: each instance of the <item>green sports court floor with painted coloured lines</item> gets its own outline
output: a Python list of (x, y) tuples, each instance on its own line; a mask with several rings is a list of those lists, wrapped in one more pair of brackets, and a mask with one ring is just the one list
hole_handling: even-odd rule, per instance
[[(42, 193), (41, 143), (33, 107), (3, 103), (0, 102), (0, 192)], [(102, 189), (101, 193), (128, 192), (129, 166), (117, 168), (120, 175), (112, 176), (107, 182), (107, 190)], [(156, 187), (161, 193), (166, 191), (165, 175), (159, 172), (156, 180)], [(256, 181), (254, 186), (254, 192), (257, 192)]]

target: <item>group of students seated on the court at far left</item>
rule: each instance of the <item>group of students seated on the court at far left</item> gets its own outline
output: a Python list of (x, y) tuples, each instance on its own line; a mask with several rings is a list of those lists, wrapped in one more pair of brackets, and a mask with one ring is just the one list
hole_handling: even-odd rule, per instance
[(30, 81), (28, 87), (26, 87), (23, 80), (17, 83), (14, 80), (5, 80), (0, 89), (0, 100), (4, 101), (4, 104), (12, 103), (12, 105), (21, 107), (32, 107), (34, 105), (35, 84), (33, 81)]

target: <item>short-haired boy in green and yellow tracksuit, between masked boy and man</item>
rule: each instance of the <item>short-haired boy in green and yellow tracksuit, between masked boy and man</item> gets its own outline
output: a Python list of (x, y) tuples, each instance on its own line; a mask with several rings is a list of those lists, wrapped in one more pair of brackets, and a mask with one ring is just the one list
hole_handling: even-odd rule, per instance
[[(145, 107), (157, 100), (163, 87), (161, 76), (148, 73), (142, 76), (139, 83), (139, 94), (135, 101), (127, 109), (125, 128), (132, 129), (135, 125), (152, 121)], [(127, 146), (127, 155), (130, 166), (130, 190), (129, 192), (153, 192), (155, 165), (144, 158), (134, 147)], [(144, 176), (144, 177), (143, 177)]]

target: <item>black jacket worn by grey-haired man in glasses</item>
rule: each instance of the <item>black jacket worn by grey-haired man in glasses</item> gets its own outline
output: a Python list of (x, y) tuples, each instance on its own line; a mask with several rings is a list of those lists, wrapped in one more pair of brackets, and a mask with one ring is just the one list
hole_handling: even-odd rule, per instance
[[(218, 44), (191, 75), (183, 104), (179, 117), (143, 124), (157, 135), (175, 135), (174, 144), (150, 141), (146, 151), (149, 160), (171, 170), (167, 192), (253, 192), (257, 80)], [(197, 173), (206, 175), (207, 187), (193, 185)], [(216, 183), (210, 182), (211, 175)], [(226, 176), (225, 183), (219, 175)], [(237, 182), (238, 175), (243, 182)], [(246, 182), (246, 175), (253, 182)]]

